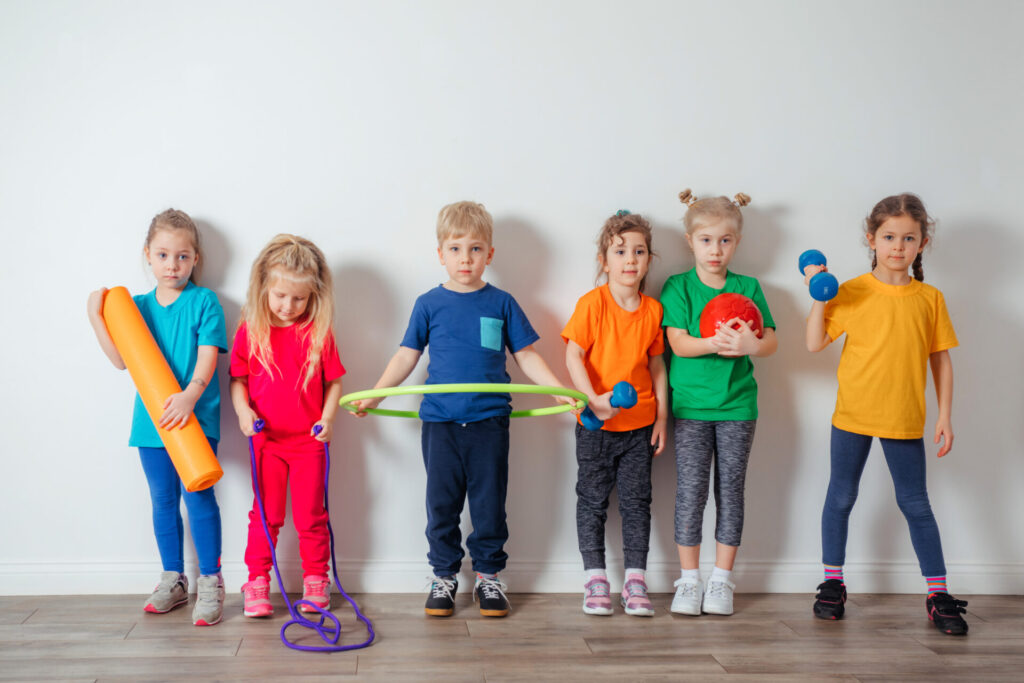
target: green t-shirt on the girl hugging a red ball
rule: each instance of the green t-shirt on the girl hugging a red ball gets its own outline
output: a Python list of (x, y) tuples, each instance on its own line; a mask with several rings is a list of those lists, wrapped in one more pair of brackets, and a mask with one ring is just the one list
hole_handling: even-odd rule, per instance
[[(775, 328), (761, 285), (754, 278), (727, 272), (720, 290), (700, 282), (695, 268), (669, 278), (662, 290), (663, 327), (700, 336), (700, 312), (723, 293), (742, 294), (754, 300), (764, 316), (764, 327)], [(684, 420), (757, 420), (758, 383), (749, 356), (726, 358), (716, 353), (695, 358), (675, 354), (669, 368), (672, 414)]]

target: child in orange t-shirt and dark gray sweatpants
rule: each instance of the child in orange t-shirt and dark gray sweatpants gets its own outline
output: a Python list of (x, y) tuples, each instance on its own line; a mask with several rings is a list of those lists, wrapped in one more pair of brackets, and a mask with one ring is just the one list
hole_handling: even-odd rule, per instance
[[(604, 563), (604, 523), (608, 497), (618, 487), (623, 517), (626, 581), (622, 604), (627, 614), (652, 616), (645, 570), (650, 541), (651, 458), (665, 449), (668, 388), (662, 304), (643, 294), (652, 255), (650, 223), (620, 211), (598, 238), (598, 279), (607, 283), (577, 302), (562, 330), (565, 366), (577, 389), (603, 426), (589, 431), (578, 424), (577, 535), (584, 569), (583, 610), (611, 614), (610, 585)], [(610, 403), (611, 388), (632, 384), (637, 403), (621, 412)]]

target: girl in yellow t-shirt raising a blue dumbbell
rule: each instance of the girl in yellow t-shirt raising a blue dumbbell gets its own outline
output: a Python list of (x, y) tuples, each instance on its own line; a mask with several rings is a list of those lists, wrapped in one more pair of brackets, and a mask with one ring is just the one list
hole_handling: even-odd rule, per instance
[[(843, 563), (850, 512), (873, 437), (879, 437), (910, 527), (910, 541), (928, 582), (928, 617), (943, 633), (964, 635), (967, 602), (946, 589), (939, 527), (925, 476), (925, 386), (932, 366), (939, 417), (938, 456), (953, 444), (950, 421), (953, 370), (948, 349), (957, 345), (942, 293), (924, 284), (921, 250), (934, 222), (914, 195), (888, 197), (867, 217), (871, 271), (844, 283), (831, 301), (815, 301), (807, 318), (807, 348), (820, 351), (846, 334), (839, 361), (839, 393), (831, 430), (831, 474), (821, 514), (825, 581), (814, 614), (843, 617)], [(909, 270), (912, 267), (913, 276)], [(825, 270), (809, 265), (806, 281)]]

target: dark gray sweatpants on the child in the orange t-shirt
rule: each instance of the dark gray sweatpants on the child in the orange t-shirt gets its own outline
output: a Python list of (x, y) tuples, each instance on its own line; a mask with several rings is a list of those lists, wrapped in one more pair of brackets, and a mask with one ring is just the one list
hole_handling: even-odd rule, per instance
[(577, 425), (577, 536), (585, 569), (604, 568), (604, 522), (613, 486), (618, 488), (626, 567), (647, 568), (652, 431), (653, 425), (625, 432)]

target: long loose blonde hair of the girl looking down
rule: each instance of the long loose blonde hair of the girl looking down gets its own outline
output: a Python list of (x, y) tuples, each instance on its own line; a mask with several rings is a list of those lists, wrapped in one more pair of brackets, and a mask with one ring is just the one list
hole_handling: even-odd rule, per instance
[(309, 240), (294, 234), (274, 237), (253, 261), (249, 278), (249, 291), (242, 307), (246, 324), (249, 350), (267, 374), (272, 375), (276, 364), (270, 348), (270, 304), (268, 290), (274, 276), (285, 276), (309, 285), (309, 301), (302, 318), (297, 323), (309, 338), (309, 353), (303, 368), (305, 376), (301, 390), (321, 368), (324, 344), (334, 326), (334, 288), (331, 269), (324, 253)]

